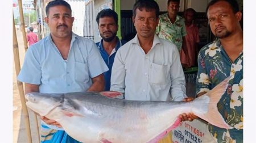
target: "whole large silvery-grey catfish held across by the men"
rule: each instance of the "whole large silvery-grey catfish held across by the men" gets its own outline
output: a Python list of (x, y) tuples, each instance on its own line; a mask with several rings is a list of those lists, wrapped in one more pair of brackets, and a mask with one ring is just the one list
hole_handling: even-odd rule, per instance
[(153, 102), (110, 98), (94, 92), (30, 93), (27, 107), (58, 121), (81, 142), (156, 142), (177, 127), (181, 113), (193, 112), (221, 128), (232, 128), (217, 110), (229, 79), (192, 102)]

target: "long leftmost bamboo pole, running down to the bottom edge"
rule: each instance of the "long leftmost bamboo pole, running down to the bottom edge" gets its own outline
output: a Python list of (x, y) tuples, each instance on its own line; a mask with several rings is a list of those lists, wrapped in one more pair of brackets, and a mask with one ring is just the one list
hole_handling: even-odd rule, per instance
[[(17, 41), (17, 37), (16, 37), (16, 29), (15, 29), (14, 25), (15, 24), (14, 24), (14, 16), (13, 16), (13, 54), (14, 54), (16, 76), (18, 76), (19, 71), (20, 71), (19, 49), (18, 49), (18, 41)], [(24, 120), (25, 120), (25, 124), (26, 124), (27, 140), (28, 140), (28, 142), (32, 142), (31, 131), (30, 131), (30, 119), (28, 116), (22, 82), (17, 80), (17, 85), (18, 85), (20, 100), (22, 102), (22, 111), (24, 114)]]

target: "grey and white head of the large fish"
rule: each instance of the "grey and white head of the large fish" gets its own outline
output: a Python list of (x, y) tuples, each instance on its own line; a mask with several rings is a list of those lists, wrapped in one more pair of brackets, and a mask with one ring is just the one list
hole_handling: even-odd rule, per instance
[(25, 95), (26, 105), (32, 111), (46, 116), (49, 112), (58, 106), (61, 106), (64, 99), (63, 94), (44, 94), (39, 92), (31, 92)]

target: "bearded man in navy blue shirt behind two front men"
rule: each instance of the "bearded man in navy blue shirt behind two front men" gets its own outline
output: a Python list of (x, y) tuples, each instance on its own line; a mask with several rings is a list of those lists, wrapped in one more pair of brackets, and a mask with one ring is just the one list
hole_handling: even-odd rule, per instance
[(100, 49), (101, 57), (109, 68), (109, 70), (104, 73), (105, 91), (108, 91), (110, 89), (110, 77), (115, 53), (126, 41), (119, 40), (116, 36), (118, 31), (118, 16), (115, 11), (111, 9), (101, 10), (98, 12), (96, 21), (102, 37), (101, 41), (96, 43), (96, 45)]

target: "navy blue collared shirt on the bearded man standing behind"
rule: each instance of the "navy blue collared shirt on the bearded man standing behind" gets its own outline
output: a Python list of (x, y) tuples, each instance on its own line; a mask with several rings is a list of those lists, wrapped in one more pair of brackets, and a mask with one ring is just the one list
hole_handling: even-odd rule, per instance
[(100, 42), (96, 43), (98, 48), (100, 49), (101, 57), (105, 61), (105, 64), (108, 66), (109, 70), (104, 73), (105, 78), (105, 91), (108, 91), (110, 89), (110, 78), (111, 78), (111, 71), (112, 66), (115, 58), (115, 53), (121, 47), (123, 44), (127, 43), (127, 41), (119, 40), (117, 37), (117, 45), (115, 45), (115, 48), (113, 49), (112, 53), (110, 55), (105, 51), (103, 47), (103, 39), (101, 39)]

